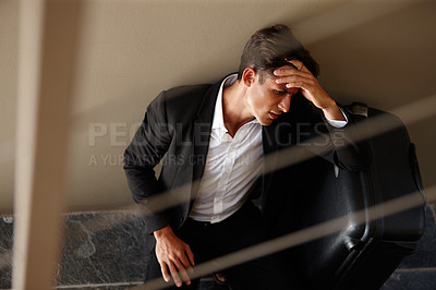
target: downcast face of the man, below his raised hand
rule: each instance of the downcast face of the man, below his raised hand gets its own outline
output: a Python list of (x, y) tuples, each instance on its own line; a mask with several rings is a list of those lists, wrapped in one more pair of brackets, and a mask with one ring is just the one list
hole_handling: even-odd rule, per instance
[(287, 88), (286, 84), (277, 84), (274, 75), (264, 76), (264, 81), (261, 84), (259, 75), (256, 74), (249, 87), (247, 102), (257, 121), (263, 125), (270, 125), (279, 114), (289, 111), (291, 96), (299, 88)]

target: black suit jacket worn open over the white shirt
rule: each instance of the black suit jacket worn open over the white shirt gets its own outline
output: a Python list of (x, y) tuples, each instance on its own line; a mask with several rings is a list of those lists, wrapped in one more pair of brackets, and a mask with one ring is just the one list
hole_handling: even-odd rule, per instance
[[(167, 225), (177, 230), (187, 218), (203, 176), (221, 82), (160, 93), (148, 106), (142, 125), (125, 149), (128, 183), (133, 198), (144, 209), (148, 233)], [(263, 126), (264, 156), (270, 156), (268, 168), (283, 160), (276, 155), (280, 149), (303, 144), (313, 136), (322, 136), (325, 142), (319, 146), (304, 146), (304, 150), (322, 155), (340, 167), (359, 168), (359, 149), (344, 135), (342, 145), (337, 146), (339, 143), (331, 137), (337, 132), (303, 96), (293, 96), (290, 112), (280, 116), (274, 124)], [(162, 168), (157, 179), (154, 168), (158, 162), (162, 162)], [(266, 192), (272, 176), (274, 171), (264, 174), (262, 182), (256, 183), (263, 184), (257, 190)], [(171, 191), (172, 194), (162, 195)], [(164, 201), (152, 198), (155, 196), (161, 196)], [(162, 209), (171, 202), (169, 208)]]

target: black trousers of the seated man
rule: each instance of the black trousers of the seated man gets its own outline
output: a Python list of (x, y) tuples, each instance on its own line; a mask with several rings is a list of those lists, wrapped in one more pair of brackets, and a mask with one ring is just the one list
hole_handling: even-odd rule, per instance
[[(189, 219), (175, 234), (190, 245), (196, 265), (267, 240), (261, 212), (251, 202), (221, 222), (209, 223)], [(152, 251), (149, 261), (146, 281), (161, 277), (155, 251)], [(232, 290), (301, 289), (294, 274), (284, 273), (275, 255), (233, 266), (225, 269), (225, 273)], [(189, 287), (183, 285), (183, 289), (197, 287), (198, 280), (193, 280)]]

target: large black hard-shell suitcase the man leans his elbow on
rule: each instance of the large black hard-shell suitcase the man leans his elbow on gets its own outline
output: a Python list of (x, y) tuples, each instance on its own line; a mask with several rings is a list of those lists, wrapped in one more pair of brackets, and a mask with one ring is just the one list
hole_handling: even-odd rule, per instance
[[(308, 289), (379, 289), (404, 256), (415, 252), (424, 230), (425, 194), (415, 147), (403, 123), (393, 114), (353, 104), (352, 118), (372, 135), (365, 145), (372, 158), (367, 171), (350, 172), (320, 157), (295, 166), (301, 179), (316, 177), (292, 192), (288, 203), (288, 232), (347, 216), (348, 227), (340, 232), (304, 243), (288, 251)], [(392, 130), (382, 134), (379, 122)], [(384, 123), (386, 124), (386, 123)], [(368, 208), (397, 197), (415, 195), (419, 206), (378, 219)], [(356, 222), (353, 214), (365, 210), (366, 220)], [(350, 215), (351, 214), (351, 215)]]

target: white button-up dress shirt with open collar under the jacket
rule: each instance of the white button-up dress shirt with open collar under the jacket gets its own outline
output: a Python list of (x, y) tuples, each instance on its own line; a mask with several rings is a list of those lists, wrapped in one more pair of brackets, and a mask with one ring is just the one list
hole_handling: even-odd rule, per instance
[[(261, 123), (256, 119), (245, 123), (233, 137), (225, 126), (222, 90), (237, 78), (238, 74), (228, 76), (218, 92), (206, 165), (190, 213), (194, 220), (214, 223), (230, 217), (245, 203), (250, 188), (263, 171)], [(347, 124), (347, 121), (328, 122), (338, 128)]]

